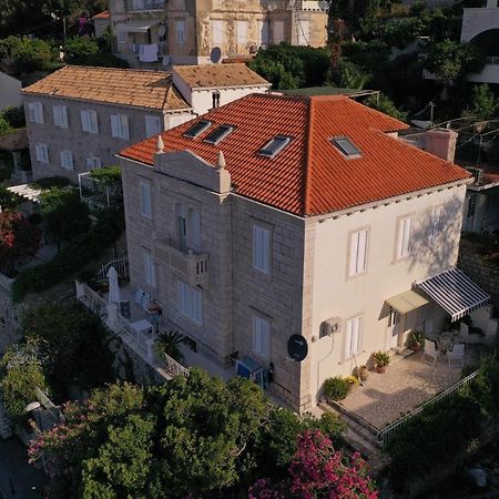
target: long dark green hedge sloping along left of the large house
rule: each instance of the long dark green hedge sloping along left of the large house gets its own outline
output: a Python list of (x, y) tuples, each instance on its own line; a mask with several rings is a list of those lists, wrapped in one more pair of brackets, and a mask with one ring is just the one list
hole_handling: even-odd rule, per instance
[(73, 275), (101, 252), (112, 246), (124, 228), (123, 213), (105, 211), (85, 234), (73, 238), (55, 257), (44, 264), (21, 271), (12, 283), (12, 299), (22, 302), (29, 293), (40, 293)]

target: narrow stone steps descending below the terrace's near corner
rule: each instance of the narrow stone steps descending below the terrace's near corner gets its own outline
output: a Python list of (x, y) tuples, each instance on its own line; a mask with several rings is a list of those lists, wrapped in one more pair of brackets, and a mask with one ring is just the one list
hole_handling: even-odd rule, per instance
[(384, 454), (376, 439), (376, 428), (369, 427), (367, 421), (361, 421), (354, 414), (348, 413), (339, 404), (334, 407), (329, 404), (319, 404), (320, 409), (336, 414), (346, 425), (345, 440), (354, 450), (358, 450), (369, 465), (370, 475), (376, 477), (389, 465), (389, 458)]

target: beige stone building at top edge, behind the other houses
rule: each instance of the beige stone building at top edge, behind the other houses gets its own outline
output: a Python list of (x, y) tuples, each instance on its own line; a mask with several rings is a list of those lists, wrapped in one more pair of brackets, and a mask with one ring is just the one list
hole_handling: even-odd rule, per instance
[(326, 7), (314, 0), (109, 2), (116, 55), (132, 67), (207, 63), (213, 49), (220, 59), (249, 55), (283, 41), (323, 47)]

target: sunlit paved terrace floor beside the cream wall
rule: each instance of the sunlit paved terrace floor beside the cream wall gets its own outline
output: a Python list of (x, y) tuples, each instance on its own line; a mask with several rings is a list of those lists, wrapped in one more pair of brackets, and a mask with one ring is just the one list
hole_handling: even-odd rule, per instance
[[(468, 345), (465, 364), (477, 365), (478, 357), (479, 346)], [(449, 369), (445, 355), (438, 356), (435, 366), (426, 359), (418, 352), (388, 366), (384, 374), (369, 371), (364, 386), (353, 388), (339, 404), (375, 428), (385, 428), (461, 379), (459, 364)]]

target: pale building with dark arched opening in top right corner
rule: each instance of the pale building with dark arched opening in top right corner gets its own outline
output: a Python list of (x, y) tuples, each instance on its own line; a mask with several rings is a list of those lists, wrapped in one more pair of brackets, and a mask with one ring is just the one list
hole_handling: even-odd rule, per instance
[(486, 65), (469, 81), (499, 83), (499, 7), (498, 0), (487, 0), (486, 7), (465, 8), (461, 42), (476, 44), (486, 55)]

